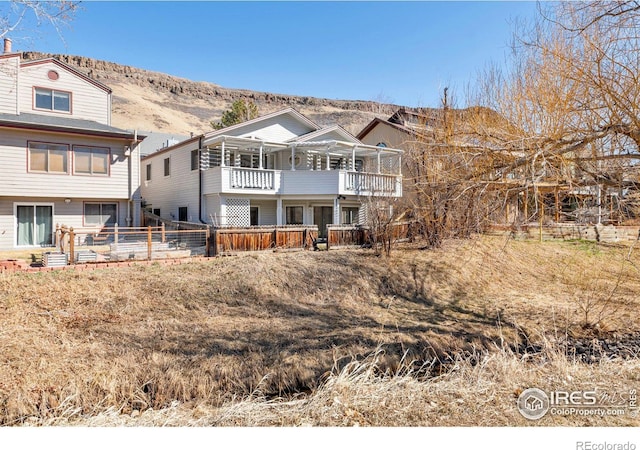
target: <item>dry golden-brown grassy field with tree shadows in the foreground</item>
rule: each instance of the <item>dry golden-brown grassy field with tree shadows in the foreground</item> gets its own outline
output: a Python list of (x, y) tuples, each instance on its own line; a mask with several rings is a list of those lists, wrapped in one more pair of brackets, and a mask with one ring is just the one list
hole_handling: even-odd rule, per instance
[(438, 250), (261, 253), (0, 275), (4, 425), (638, 425), (518, 394), (628, 392), (640, 250), (478, 237)]

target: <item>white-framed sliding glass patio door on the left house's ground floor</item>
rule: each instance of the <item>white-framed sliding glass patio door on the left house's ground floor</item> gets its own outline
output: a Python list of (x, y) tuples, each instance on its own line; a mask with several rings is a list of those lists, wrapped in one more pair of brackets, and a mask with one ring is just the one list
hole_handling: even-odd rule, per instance
[(53, 206), (16, 205), (16, 223), (18, 246), (53, 245)]

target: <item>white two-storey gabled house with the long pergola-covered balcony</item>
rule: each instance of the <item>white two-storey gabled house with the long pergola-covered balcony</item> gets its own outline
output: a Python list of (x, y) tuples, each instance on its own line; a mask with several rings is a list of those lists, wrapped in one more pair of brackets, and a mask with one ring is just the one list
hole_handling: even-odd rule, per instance
[(141, 160), (161, 217), (218, 226), (365, 221), (365, 200), (402, 195), (402, 151), (321, 128), (292, 108), (187, 139)]

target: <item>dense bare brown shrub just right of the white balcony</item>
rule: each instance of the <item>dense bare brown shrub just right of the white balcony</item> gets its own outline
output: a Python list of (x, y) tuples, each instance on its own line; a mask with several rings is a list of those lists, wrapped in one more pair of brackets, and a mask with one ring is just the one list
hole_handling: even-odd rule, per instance
[(445, 88), (440, 108), (420, 110), (406, 121), (413, 140), (404, 155), (405, 201), (429, 246), (482, 231), (500, 200), (491, 189), (495, 170), (488, 169), (500, 164), (500, 154), (487, 150), (488, 140), (478, 143), (471, 127), (495, 113), (456, 109), (451, 98)]

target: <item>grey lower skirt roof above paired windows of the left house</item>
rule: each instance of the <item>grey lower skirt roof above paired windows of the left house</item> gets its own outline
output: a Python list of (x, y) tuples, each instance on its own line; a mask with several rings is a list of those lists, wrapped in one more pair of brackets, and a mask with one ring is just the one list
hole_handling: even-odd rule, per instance
[(0, 127), (84, 134), (120, 139), (137, 138), (138, 141), (145, 138), (143, 135), (136, 135), (133, 131), (122, 130), (120, 128), (94, 122), (92, 120), (47, 116), (43, 114), (0, 114)]

